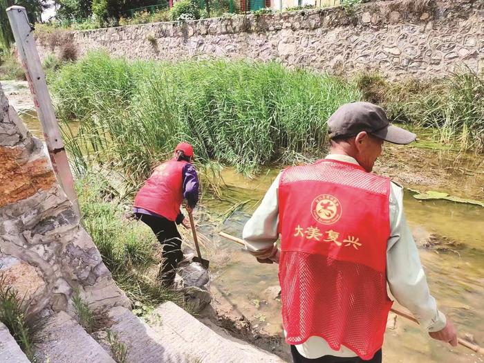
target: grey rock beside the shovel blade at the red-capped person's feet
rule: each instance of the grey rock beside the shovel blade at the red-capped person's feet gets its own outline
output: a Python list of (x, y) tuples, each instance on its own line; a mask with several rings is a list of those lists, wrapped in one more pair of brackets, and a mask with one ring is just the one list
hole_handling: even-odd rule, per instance
[(195, 312), (203, 310), (212, 301), (209, 286), (208, 271), (200, 263), (184, 263), (178, 267), (174, 288), (183, 292), (187, 304)]

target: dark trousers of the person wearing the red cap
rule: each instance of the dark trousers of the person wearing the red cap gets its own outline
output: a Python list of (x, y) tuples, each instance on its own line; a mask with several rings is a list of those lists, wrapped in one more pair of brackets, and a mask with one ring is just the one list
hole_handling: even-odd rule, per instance
[(135, 213), (136, 218), (148, 225), (163, 246), (162, 267), (160, 278), (164, 285), (173, 283), (176, 266), (183, 259), (181, 251), (181, 236), (176, 229), (176, 223), (167, 218), (150, 216), (149, 214)]

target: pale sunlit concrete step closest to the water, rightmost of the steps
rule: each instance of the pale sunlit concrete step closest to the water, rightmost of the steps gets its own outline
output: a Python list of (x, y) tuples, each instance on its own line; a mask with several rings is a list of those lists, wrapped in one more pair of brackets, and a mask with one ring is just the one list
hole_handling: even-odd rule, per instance
[(149, 317), (149, 324), (160, 335), (163, 344), (175, 346), (185, 353), (187, 360), (183, 362), (284, 362), (277, 355), (247, 342), (219, 335), (172, 302), (158, 306)]

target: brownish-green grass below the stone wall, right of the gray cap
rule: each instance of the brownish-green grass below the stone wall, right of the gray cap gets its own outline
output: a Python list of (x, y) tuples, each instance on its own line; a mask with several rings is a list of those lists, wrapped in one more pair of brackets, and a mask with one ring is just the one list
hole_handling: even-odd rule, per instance
[(363, 99), (380, 104), (395, 122), (434, 131), (436, 140), (484, 152), (484, 75), (469, 69), (442, 80), (389, 82), (379, 73), (355, 79)]

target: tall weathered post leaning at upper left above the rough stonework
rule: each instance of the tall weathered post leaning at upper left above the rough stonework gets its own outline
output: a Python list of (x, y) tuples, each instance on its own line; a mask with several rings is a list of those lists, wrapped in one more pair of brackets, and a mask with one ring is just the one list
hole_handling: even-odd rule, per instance
[(28, 86), (34, 99), (35, 109), (39, 116), (44, 138), (46, 140), (50, 161), (57, 176), (57, 181), (73, 203), (80, 216), (77, 195), (74, 189), (74, 179), (69, 166), (64, 142), (55, 118), (54, 107), (47, 89), (46, 75), (40, 63), (39, 53), (35, 45), (33, 28), (28, 22), (27, 12), (22, 6), (11, 6), (7, 9), (8, 20), (15, 37), (17, 51), (24, 66)]

